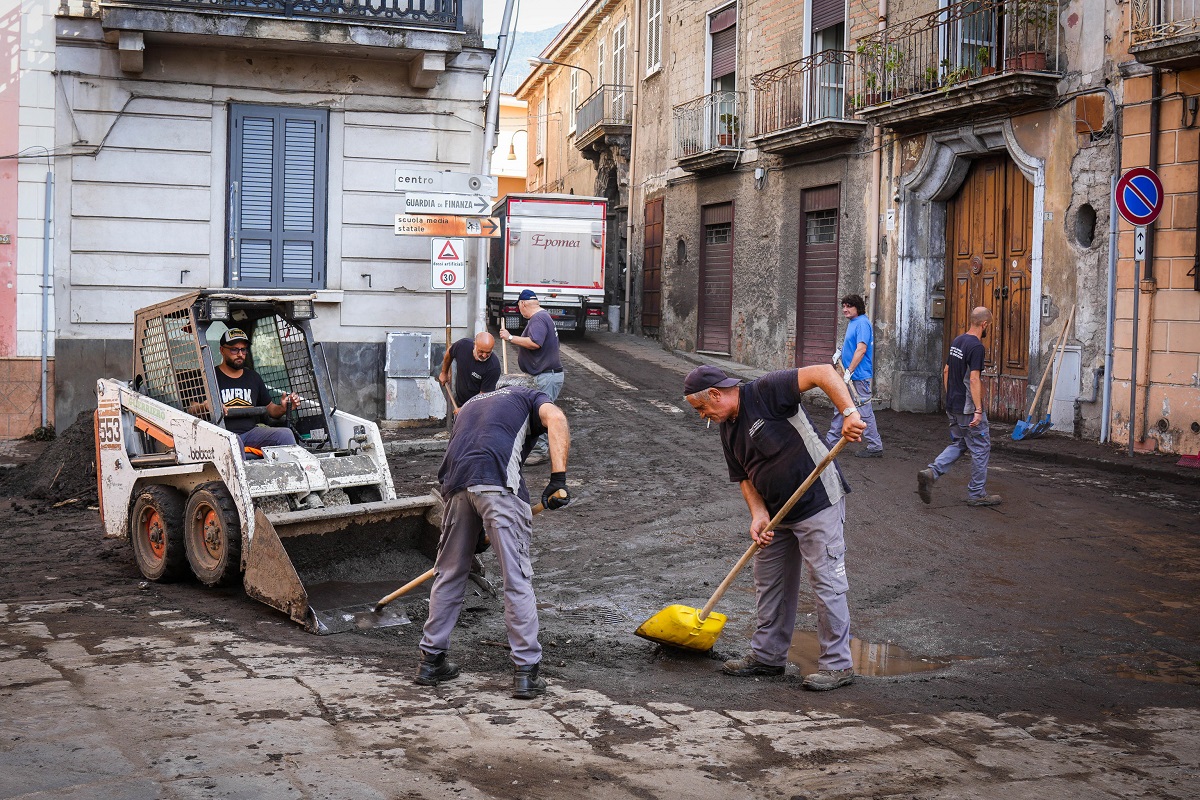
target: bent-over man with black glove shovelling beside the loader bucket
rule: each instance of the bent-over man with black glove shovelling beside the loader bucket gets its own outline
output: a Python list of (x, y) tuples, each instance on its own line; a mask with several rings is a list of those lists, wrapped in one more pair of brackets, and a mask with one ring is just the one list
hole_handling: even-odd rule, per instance
[(462, 609), (472, 557), (486, 533), (504, 578), (504, 624), (516, 668), (512, 697), (528, 700), (546, 691), (546, 679), (538, 674), (541, 644), (530, 581), (533, 513), (521, 475), (522, 459), (542, 433), (550, 434), (551, 474), (541, 501), (546, 509), (562, 509), (570, 503), (570, 494), (553, 495), (566, 489), (570, 431), (566, 416), (545, 392), (504, 386), (476, 395), (458, 413), (438, 470), (445, 506), (415, 679), (422, 686), (437, 686), (458, 675), (458, 664), (446, 658), (450, 632)]

